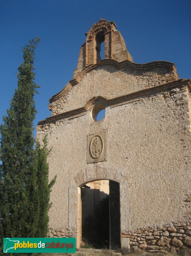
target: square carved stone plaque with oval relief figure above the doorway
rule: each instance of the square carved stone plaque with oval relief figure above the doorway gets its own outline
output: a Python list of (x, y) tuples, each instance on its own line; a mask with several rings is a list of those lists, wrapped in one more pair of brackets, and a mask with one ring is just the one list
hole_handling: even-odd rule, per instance
[(106, 131), (87, 135), (87, 163), (106, 161)]

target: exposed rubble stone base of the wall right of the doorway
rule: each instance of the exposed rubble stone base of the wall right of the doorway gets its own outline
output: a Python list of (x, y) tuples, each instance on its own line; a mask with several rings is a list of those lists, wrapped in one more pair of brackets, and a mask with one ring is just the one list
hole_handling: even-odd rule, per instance
[(122, 233), (130, 238), (130, 246), (138, 246), (147, 252), (176, 252), (191, 247), (190, 222), (179, 222), (155, 228), (141, 228), (134, 232)]

